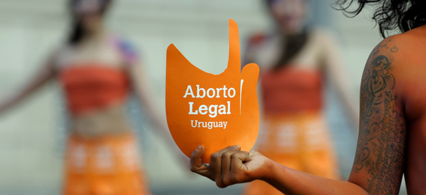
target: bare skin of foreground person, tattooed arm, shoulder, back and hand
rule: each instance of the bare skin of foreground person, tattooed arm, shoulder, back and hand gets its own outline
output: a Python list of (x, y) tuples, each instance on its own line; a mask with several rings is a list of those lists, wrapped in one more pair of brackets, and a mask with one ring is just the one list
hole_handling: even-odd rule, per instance
[(367, 60), (360, 91), (360, 134), (348, 181), (289, 169), (256, 151), (230, 146), (201, 164), (204, 148), (191, 156), (191, 171), (219, 187), (264, 180), (285, 194), (398, 194), (402, 175), (409, 194), (425, 194), (426, 26), (391, 36)]

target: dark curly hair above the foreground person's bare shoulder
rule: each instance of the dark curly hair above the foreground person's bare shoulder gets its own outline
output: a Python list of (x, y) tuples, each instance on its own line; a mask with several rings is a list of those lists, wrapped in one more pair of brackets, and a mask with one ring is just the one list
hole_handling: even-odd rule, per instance
[[(355, 2), (358, 8), (351, 10)], [(404, 33), (426, 24), (425, 0), (336, 0), (333, 7), (343, 10), (348, 17), (355, 17), (370, 4), (376, 7), (372, 19), (379, 24), (383, 38), (395, 29)]]

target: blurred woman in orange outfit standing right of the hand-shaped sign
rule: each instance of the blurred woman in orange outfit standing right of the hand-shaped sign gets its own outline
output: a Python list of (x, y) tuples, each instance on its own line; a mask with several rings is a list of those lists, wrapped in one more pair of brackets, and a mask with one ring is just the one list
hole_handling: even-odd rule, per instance
[[(337, 46), (327, 33), (307, 26), (309, 1), (267, 0), (277, 29), (249, 40), (246, 63), (260, 65), (263, 125), (256, 142), (266, 157), (293, 169), (339, 178), (328, 126), (323, 116), (325, 76), (337, 87), (355, 124)], [(263, 181), (245, 194), (281, 194)]]

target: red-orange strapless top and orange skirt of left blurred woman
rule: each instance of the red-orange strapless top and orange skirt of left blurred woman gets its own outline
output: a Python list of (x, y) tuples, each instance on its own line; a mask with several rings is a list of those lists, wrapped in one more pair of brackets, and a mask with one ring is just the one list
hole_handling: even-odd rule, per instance
[[(61, 70), (68, 109), (73, 116), (126, 100), (128, 76), (105, 65)], [(149, 194), (133, 134), (85, 138), (71, 134), (66, 149), (66, 195)]]

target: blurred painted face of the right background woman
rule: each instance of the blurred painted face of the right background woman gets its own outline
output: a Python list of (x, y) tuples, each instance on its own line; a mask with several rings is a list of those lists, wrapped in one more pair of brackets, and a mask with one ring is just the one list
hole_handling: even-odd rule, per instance
[(272, 0), (272, 17), (285, 33), (300, 32), (306, 22), (307, 0)]

